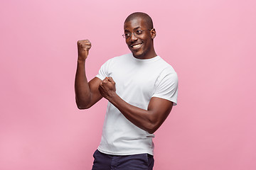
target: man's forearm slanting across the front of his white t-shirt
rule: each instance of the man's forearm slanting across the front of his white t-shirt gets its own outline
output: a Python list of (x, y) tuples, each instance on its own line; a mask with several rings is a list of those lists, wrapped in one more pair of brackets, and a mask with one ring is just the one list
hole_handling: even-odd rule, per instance
[(149, 133), (154, 133), (161, 125), (159, 122), (160, 120), (154, 116), (154, 111), (148, 111), (132, 106), (115, 93), (107, 99), (124, 115), (125, 118)]

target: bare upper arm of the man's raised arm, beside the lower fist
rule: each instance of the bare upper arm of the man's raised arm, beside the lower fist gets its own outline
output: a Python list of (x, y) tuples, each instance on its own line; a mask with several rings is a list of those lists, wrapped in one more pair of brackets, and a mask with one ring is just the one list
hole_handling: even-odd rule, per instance
[(95, 77), (89, 81), (89, 87), (90, 87), (90, 93), (91, 93), (91, 99), (90, 99), (90, 106), (93, 106), (97, 101), (100, 101), (102, 98), (100, 91), (99, 91), (99, 86), (100, 82), (102, 80), (99, 79), (98, 77)]

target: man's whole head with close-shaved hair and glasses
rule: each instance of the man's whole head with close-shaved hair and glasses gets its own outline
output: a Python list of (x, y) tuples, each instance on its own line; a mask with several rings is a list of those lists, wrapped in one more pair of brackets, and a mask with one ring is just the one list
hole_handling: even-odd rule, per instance
[(153, 43), (156, 30), (148, 14), (142, 12), (130, 14), (124, 21), (124, 35), (134, 57), (139, 59), (156, 57)]

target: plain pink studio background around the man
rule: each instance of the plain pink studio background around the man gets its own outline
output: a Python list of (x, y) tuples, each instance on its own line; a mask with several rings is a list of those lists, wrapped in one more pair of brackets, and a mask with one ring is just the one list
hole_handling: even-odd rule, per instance
[(256, 169), (255, 9), (254, 0), (1, 1), (0, 169), (91, 169), (107, 102), (76, 108), (76, 42), (92, 42), (92, 79), (129, 52), (121, 35), (134, 11), (153, 18), (156, 52), (179, 78), (154, 169)]

